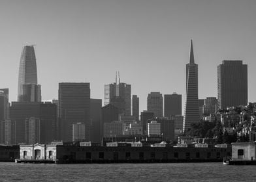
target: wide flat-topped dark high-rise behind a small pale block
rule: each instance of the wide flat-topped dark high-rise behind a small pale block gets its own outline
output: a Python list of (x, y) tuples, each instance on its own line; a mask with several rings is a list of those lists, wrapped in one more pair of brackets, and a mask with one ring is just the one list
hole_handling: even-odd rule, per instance
[(86, 126), (86, 140), (91, 138), (89, 117), (89, 83), (59, 83), (59, 119), (61, 140), (72, 141), (72, 124), (82, 122)]

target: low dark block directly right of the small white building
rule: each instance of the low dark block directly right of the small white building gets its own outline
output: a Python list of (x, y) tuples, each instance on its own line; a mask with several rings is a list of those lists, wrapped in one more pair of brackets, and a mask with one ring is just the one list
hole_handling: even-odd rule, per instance
[(157, 122), (161, 123), (161, 135), (163, 141), (174, 141), (175, 139), (175, 123), (174, 120), (166, 120), (165, 118), (157, 118)]

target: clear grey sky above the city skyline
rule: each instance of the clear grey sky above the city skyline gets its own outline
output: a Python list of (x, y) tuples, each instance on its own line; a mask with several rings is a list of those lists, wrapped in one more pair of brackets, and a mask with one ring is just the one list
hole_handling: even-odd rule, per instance
[(16, 101), (22, 47), (37, 44), (42, 99), (57, 99), (59, 82), (131, 84), (146, 110), (150, 92), (182, 94), (193, 39), (199, 98), (217, 97), (217, 65), (248, 64), (249, 101), (256, 101), (255, 0), (0, 1), (0, 88)]

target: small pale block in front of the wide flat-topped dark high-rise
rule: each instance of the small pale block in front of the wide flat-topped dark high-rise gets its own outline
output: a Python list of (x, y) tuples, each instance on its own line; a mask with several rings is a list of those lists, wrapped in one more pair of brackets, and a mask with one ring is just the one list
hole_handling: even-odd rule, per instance
[(72, 141), (82, 141), (86, 139), (86, 125), (84, 123), (72, 124)]

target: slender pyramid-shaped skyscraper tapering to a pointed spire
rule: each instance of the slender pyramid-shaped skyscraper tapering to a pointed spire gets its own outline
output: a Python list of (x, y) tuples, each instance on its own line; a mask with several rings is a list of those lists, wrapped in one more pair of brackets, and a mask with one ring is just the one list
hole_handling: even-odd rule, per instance
[(195, 64), (193, 42), (191, 40), (189, 63), (186, 64), (185, 110), (183, 131), (191, 128), (191, 123), (199, 122), (198, 66)]

